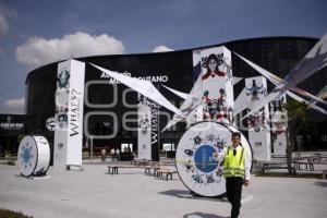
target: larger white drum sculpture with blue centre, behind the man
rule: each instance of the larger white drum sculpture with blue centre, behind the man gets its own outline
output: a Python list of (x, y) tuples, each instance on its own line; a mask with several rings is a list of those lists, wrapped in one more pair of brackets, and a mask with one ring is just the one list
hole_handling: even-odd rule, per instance
[[(223, 162), (214, 157), (223, 147), (231, 145), (231, 134), (238, 131), (234, 126), (218, 122), (204, 121), (192, 125), (181, 137), (175, 165), (184, 185), (193, 193), (219, 197), (226, 193)], [(244, 135), (242, 146), (252, 157), (251, 147)]]

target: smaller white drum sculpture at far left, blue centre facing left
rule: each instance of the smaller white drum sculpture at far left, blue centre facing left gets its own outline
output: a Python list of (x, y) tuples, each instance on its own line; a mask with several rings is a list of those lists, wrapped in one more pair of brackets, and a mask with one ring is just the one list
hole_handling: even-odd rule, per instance
[(17, 160), (24, 177), (45, 175), (50, 164), (50, 147), (44, 136), (25, 136), (20, 144)]

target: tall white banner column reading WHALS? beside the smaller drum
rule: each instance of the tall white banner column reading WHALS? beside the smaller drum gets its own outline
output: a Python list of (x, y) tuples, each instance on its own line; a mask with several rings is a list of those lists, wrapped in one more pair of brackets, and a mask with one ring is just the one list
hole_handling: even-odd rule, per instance
[(58, 64), (53, 166), (82, 166), (85, 63)]

